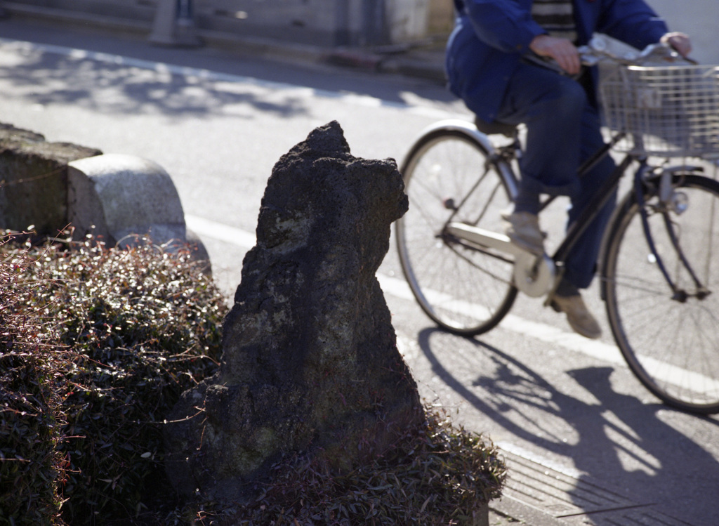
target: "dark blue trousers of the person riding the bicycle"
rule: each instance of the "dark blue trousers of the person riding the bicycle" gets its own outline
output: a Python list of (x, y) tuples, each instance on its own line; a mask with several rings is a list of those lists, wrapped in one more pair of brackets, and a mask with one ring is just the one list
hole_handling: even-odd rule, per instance
[[(615, 163), (607, 155), (582, 178), (577, 168), (603, 147), (600, 115), (577, 81), (531, 64), (510, 78), (497, 115), (499, 122), (524, 123), (525, 151), (519, 161), (523, 191), (569, 196), (567, 225), (579, 217)], [(566, 261), (564, 279), (577, 288), (590, 286), (602, 236), (616, 204), (616, 193), (587, 227)]]

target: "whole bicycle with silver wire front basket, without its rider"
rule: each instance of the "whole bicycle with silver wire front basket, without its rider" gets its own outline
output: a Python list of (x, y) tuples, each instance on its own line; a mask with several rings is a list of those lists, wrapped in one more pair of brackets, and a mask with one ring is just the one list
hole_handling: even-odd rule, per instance
[[(628, 59), (596, 42), (582, 50), (590, 64), (612, 60), (615, 72), (600, 82), (612, 138), (580, 175), (610, 150), (623, 158), (554, 254), (532, 255), (502, 233), (500, 212), (516, 195), (521, 155), (518, 130), (507, 124), (453, 119), (424, 130), (400, 166), (410, 209), (395, 234), (423, 311), (444, 330), (478, 335), (503, 319), (518, 291), (549, 304), (572, 245), (633, 167), (598, 261), (611, 332), (649, 391), (712, 414), (719, 412), (719, 66), (641, 65), (658, 48)], [(510, 142), (490, 139), (497, 134)], [(714, 176), (672, 158), (713, 164)]]

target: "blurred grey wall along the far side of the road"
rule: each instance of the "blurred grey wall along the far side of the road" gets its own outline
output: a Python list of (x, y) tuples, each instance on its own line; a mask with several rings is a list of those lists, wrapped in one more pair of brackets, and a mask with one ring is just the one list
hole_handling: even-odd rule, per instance
[[(311, 44), (381, 46), (443, 40), (452, 30), (452, 0), (0, 0), (0, 8), (124, 20), (149, 30), (158, 4), (177, 2), (200, 32)], [(510, 1), (510, 0), (506, 0)], [(694, 56), (719, 64), (719, 0), (646, 0), (672, 30), (692, 36)]]

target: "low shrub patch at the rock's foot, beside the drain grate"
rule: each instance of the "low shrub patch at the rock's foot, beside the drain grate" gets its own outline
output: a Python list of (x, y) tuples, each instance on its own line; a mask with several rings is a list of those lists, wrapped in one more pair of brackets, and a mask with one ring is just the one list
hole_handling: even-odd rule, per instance
[(333, 472), (311, 456), (286, 458), (270, 479), (248, 488), (259, 494), (249, 504), (194, 516), (224, 526), (473, 524), (500, 495), (505, 464), (490, 441), (454, 427), (443, 412), (428, 408), (426, 415), (393, 450), (354, 471)]

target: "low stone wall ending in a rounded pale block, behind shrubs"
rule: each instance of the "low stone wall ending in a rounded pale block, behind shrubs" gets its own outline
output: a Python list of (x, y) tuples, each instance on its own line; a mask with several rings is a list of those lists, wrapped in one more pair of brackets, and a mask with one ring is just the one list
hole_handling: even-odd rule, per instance
[[(188, 231), (180, 195), (157, 163), (103, 154), (0, 123), (0, 228), (54, 237), (73, 227), (128, 248), (148, 237), (171, 253), (190, 250), (209, 274), (209, 255)], [(32, 228), (29, 228), (32, 225)]]

